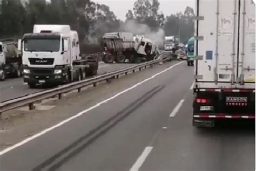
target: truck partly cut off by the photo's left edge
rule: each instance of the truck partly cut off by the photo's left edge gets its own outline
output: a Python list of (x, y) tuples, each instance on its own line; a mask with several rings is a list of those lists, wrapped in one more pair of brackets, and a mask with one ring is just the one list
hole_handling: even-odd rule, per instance
[(0, 81), (22, 77), (22, 53), (12, 38), (0, 39)]

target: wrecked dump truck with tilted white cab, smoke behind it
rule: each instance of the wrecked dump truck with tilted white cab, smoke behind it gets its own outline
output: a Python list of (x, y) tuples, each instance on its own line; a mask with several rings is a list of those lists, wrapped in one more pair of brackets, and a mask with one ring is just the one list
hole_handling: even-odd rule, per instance
[(104, 56), (105, 63), (130, 63), (153, 60), (157, 53), (157, 46), (144, 36), (133, 37), (129, 32), (105, 33)]

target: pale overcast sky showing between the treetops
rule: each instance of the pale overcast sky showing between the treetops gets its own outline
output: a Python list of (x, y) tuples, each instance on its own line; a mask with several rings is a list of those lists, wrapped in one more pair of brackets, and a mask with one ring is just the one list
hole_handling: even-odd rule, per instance
[[(125, 15), (128, 10), (132, 10), (134, 2), (136, 0), (91, 0), (99, 4), (105, 4), (110, 7), (110, 10), (114, 12), (118, 19), (125, 20)], [(194, 0), (159, 0), (160, 9), (165, 16), (169, 16), (172, 13), (184, 12), (186, 6), (190, 6), (194, 9)]]

